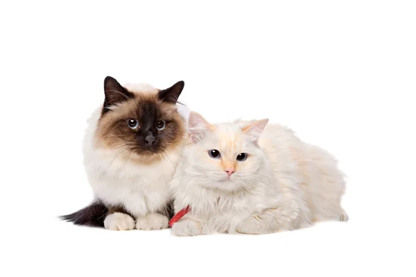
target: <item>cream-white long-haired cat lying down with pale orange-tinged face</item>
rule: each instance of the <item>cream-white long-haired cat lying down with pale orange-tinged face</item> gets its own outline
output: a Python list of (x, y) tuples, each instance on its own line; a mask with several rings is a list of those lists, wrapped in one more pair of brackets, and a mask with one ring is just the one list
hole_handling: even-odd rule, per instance
[[(267, 127), (266, 127), (267, 125)], [(210, 124), (191, 111), (171, 188), (177, 236), (263, 234), (347, 221), (345, 175), (327, 151), (268, 119)]]

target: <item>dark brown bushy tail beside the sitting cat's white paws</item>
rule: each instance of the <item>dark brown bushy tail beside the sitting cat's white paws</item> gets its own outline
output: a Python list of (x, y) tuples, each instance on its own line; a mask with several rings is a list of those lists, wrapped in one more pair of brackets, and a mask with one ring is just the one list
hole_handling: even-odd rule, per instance
[(61, 215), (61, 220), (73, 222), (76, 225), (86, 225), (95, 227), (104, 227), (105, 215), (108, 208), (100, 200), (94, 200), (89, 206), (80, 209), (80, 211), (70, 215)]

